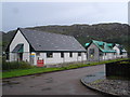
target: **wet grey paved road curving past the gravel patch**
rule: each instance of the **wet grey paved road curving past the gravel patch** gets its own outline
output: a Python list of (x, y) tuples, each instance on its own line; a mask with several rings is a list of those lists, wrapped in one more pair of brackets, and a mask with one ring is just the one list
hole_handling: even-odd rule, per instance
[(80, 83), (82, 77), (100, 71), (104, 65), (8, 79), (3, 80), (3, 95), (101, 95)]

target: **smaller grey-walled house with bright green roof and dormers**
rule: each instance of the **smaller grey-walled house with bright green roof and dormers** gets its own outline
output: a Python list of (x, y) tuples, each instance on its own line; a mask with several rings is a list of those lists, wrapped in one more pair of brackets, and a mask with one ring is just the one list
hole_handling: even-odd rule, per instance
[(84, 46), (87, 50), (87, 59), (89, 61), (100, 61), (121, 57), (117, 56), (118, 48), (114, 47), (115, 43), (92, 40), (90, 43), (86, 43)]

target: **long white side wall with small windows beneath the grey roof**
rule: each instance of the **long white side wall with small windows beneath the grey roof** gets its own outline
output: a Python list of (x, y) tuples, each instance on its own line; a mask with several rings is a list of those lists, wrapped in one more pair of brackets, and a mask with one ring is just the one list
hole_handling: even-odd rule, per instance
[(61, 53), (53, 53), (53, 57), (47, 57), (47, 53), (40, 53), (39, 56), (35, 56), (35, 65), (37, 65), (38, 57), (44, 60), (44, 65), (87, 60), (86, 53), (81, 53), (81, 56), (78, 56), (78, 53), (73, 53), (73, 57), (69, 57), (69, 53), (64, 53), (64, 58), (61, 57)]

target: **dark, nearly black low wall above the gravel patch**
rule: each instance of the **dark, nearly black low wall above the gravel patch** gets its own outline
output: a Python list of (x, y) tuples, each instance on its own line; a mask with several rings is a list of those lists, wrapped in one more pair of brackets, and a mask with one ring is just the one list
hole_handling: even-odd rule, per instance
[(130, 60), (108, 63), (105, 70), (107, 79), (130, 79)]

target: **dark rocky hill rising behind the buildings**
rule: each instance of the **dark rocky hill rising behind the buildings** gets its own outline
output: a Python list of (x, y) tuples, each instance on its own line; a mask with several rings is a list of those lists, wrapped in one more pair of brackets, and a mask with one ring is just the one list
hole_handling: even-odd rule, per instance
[[(120, 43), (128, 46), (128, 25), (119, 23), (96, 24), (96, 25), (70, 25), (70, 26), (37, 26), (26, 29), (35, 29), (47, 32), (62, 33), (75, 37), (83, 46), (91, 40), (100, 40), (112, 43)], [(3, 34), (3, 50), (11, 41), (15, 30)]]

